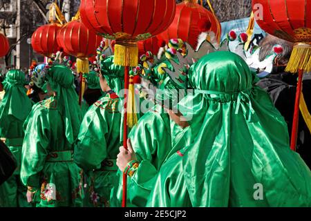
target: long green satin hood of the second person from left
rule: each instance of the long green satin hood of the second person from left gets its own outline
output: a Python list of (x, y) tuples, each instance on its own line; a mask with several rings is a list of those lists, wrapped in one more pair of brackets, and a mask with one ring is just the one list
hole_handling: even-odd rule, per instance
[(57, 108), (64, 116), (66, 138), (70, 144), (75, 142), (82, 120), (79, 97), (73, 87), (73, 74), (66, 66), (56, 65), (48, 70), (46, 79), (50, 88), (56, 92)]

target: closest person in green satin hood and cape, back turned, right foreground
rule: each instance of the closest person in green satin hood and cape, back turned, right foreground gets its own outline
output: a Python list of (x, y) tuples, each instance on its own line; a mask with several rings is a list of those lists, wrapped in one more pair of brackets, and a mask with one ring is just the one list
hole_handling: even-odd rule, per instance
[(311, 206), (310, 169), (256, 81), (232, 52), (191, 67), (178, 108), (198, 135), (162, 166), (147, 206)]

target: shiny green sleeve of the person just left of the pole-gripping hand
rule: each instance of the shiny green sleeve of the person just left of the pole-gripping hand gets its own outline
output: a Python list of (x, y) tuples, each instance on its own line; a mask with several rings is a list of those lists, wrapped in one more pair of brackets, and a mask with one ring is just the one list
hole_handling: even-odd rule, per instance
[(107, 156), (106, 133), (106, 117), (93, 105), (84, 116), (75, 146), (74, 160), (79, 167), (86, 171), (100, 169)]

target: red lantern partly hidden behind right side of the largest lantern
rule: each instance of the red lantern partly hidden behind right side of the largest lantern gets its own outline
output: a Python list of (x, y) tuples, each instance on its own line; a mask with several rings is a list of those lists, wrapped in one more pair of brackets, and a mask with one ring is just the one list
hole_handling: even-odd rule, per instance
[[(193, 48), (198, 44), (198, 36), (204, 28), (199, 27), (202, 19), (210, 21), (211, 28), (215, 34), (216, 39), (220, 41), (221, 26), (218, 19), (203, 6), (200, 6), (195, 0), (184, 0), (176, 7), (176, 15), (169, 28), (162, 32), (158, 37), (169, 41), (169, 39), (182, 39)], [(200, 30), (201, 29), (201, 30)]]

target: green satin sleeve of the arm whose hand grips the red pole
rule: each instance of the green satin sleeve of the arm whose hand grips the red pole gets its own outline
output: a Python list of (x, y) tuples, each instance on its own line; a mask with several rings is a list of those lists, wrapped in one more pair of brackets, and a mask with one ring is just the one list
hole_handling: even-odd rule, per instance
[(129, 178), (129, 200), (137, 206), (145, 206), (155, 184), (155, 177), (171, 150), (171, 135), (167, 115), (149, 112), (133, 128), (129, 137), (140, 165)]

